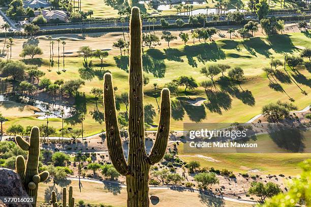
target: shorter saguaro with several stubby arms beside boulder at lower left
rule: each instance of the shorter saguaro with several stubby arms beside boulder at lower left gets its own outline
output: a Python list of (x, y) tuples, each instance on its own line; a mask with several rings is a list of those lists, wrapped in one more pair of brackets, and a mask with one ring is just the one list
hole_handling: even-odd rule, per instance
[(34, 197), (33, 206), (36, 206), (37, 192), (39, 182), (45, 181), (49, 177), (48, 171), (43, 171), (39, 174), (39, 155), (40, 155), (40, 132), (37, 126), (32, 128), (30, 133), (30, 141), (26, 142), (21, 136), (15, 137), (17, 145), (28, 151), (27, 163), (23, 156), (16, 157), (16, 172), (20, 176), (23, 185), (29, 196)]

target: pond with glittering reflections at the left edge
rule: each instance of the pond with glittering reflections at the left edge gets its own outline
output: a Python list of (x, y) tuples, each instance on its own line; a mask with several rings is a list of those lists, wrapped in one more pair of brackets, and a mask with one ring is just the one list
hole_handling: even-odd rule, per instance
[(64, 118), (72, 117), (76, 113), (76, 109), (60, 103), (52, 103), (28, 97), (19, 93), (8, 93), (0, 95), (0, 106), (2, 110), (18, 109), (13, 111), (12, 116), (22, 113), (23, 109), (33, 110), (37, 119), (46, 119), (46, 112), (50, 112), (49, 118), (61, 118), (61, 112), (64, 112)]

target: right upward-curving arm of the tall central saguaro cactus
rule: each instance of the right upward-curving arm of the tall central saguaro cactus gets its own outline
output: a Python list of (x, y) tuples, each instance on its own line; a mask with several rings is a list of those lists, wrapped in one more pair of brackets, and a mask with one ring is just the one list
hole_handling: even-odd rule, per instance
[(171, 119), (170, 91), (167, 88), (162, 90), (160, 112), (157, 139), (155, 140), (149, 155), (150, 164), (160, 162), (165, 154), (167, 147)]

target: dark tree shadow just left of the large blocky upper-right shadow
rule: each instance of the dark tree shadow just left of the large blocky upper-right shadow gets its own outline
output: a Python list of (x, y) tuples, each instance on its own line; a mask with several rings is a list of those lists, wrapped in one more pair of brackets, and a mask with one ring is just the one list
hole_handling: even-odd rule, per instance
[(269, 52), (271, 46), (265, 43), (261, 38), (252, 38), (250, 40), (244, 40), (243, 46), (248, 52), (250, 52), (253, 56), (256, 57), (257, 57), (256, 53), (264, 55), (265, 57), (269, 57), (271, 55), (271, 52)]

